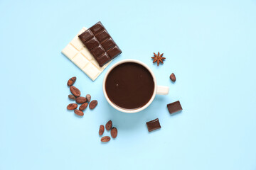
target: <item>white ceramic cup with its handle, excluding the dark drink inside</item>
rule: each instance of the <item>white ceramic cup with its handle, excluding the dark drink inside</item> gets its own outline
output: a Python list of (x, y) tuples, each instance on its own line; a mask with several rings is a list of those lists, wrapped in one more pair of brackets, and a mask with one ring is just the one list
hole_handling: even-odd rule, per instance
[[(142, 106), (141, 108), (136, 108), (136, 109), (125, 109), (125, 108), (119, 108), (118, 106), (116, 106), (114, 103), (112, 103), (112, 101), (110, 101), (110, 98), (108, 98), (107, 96), (107, 92), (105, 89), (105, 84), (106, 84), (106, 79), (108, 74), (110, 74), (110, 72), (112, 71), (112, 69), (114, 69), (114, 67), (117, 67), (119, 64), (125, 63), (125, 62), (135, 62), (137, 64), (141, 64), (143, 67), (145, 67), (146, 69), (149, 70), (149, 72), (151, 73), (153, 79), (154, 79), (154, 92), (153, 95), (151, 96), (150, 100), (148, 101), (148, 103), (146, 103), (146, 105)], [(145, 108), (147, 108), (152, 101), (154, 100), (156, 94), (161, 94), (161, 95), (166, 95), (169, 94), (169, 86), (157, 86), (156, 84), (156, 77), (154, 76), (154, 73), (152, 72), (152, 70), (143, 62), (139, 61), (139, 60), (122, 60), (120, 62), (115, 63), (114, 65), (112, 65), (112, 67), (110, 67), (110, 69), (107, 70), (107, 73), (105, 74), (105, 77), (103, 79), (103, 93), (105, 98), (107, 99), (107, 102), (110, 103), (110, 105), (117, 109), (117, 111), (122, 111), (124, 113), (137, 113), (139, 111), (143, 111)]]

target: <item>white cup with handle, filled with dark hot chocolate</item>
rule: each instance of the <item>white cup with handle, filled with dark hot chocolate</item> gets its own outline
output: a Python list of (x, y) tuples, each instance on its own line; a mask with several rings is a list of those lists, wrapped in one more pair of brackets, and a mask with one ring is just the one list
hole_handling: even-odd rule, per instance
[(154, 73), (143, 62), (122, 60), (105, 74), (103, 93), (118, 111), (137, 113), (147, 108), (156, 94), (169, 94), (169, 87), (157, 86)]

